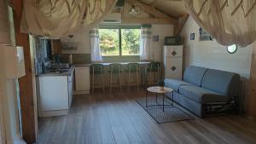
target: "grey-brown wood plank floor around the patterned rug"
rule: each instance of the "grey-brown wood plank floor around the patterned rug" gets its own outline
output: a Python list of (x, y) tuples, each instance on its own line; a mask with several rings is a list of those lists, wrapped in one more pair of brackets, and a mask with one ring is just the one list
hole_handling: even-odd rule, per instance
[(242, 116), (157, 124), (135, 101), (143, 90), (131, 91), (74, 95), (67, 116), (39, 119), (38, 144), (256, 143), (256, 124)]

